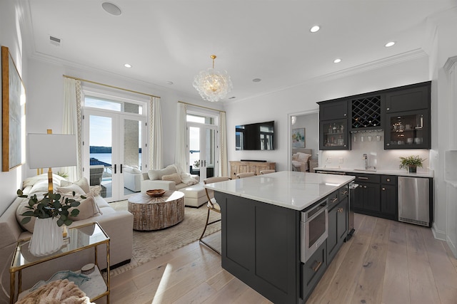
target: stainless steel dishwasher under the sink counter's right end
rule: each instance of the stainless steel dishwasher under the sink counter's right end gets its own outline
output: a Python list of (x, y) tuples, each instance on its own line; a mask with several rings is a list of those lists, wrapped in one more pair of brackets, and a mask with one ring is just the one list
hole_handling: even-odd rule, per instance
[(421, 177), (398, 177), (398, 221), (429, 226), (430, 184)]

